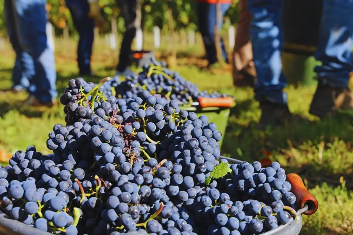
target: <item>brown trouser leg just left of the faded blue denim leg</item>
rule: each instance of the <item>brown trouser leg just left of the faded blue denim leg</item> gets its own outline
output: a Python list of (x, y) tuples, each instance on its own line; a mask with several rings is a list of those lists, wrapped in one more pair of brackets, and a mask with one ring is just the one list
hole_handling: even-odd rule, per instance
[(233, 50), (233, 84), (234, 86), (255, 85), (256, 70), (253, 62), (252, 45), (250, 41), (251, 14), (247, 9), (247, 0), (241, 0), (239, 5), (239, 21)]

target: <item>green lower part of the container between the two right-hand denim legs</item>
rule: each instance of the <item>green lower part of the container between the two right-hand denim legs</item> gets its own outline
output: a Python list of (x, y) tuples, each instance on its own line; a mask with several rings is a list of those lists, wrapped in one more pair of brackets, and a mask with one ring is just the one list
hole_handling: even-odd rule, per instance
[(282, 53), (282, 69), (288, 84), (302, 84), (311, 86), (316, 84), (315, 66), (320, 62), (314, 56), (294, 54), (290, 52)]

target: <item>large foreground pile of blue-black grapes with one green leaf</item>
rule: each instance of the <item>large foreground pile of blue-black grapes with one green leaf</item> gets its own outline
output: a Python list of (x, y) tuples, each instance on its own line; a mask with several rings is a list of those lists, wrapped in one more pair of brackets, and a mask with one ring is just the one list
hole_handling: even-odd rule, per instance
[(53, 153), (30, 146), (0, 168), (6, 216), (66, 235), (261, 234), (291, 221), (279, 163), (228, 163), (207, 116), (146, 90), (106, 96), (107, 80), (70, 80), (66, 124), (48, 134)]

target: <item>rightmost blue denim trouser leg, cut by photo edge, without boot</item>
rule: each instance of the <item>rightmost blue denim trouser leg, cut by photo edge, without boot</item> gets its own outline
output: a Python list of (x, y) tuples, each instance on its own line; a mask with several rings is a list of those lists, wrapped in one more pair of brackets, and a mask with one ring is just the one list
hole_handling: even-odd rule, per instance
[(353, 70), (353, 1), (324, 0), (320, 36), (315, 57), (318, 79), (334, 87), (348, 87)]

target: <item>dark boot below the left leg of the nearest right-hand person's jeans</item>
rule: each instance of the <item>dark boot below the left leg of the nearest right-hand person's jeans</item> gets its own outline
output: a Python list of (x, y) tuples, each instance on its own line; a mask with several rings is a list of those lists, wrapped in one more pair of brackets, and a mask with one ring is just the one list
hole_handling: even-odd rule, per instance
[(276, 104), (269, 101), (261, 101), (262, 111), (257, 128), (265, 130), (268, 126), (278, 126), (292, 117), (287, 104)]

